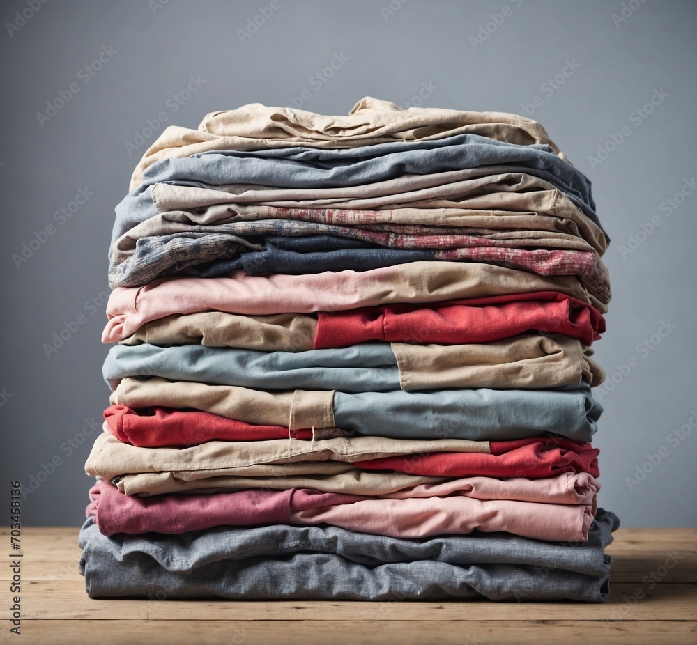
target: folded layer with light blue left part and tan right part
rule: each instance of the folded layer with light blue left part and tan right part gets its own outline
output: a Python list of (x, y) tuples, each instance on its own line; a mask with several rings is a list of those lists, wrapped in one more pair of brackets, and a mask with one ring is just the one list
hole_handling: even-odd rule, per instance
[(256, 352), (204, 345), (115, 345), (102, 376), (157, 376), (266, 390), (419, 391), (457, 387), (549, 388), (604, 380), (579, 341), (562, 334), (470, 345), (363, 343), (307, 352)]

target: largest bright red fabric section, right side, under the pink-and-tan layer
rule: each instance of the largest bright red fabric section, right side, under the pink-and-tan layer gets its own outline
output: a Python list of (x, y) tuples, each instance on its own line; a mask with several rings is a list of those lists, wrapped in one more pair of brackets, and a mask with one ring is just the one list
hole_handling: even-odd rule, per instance
[(556, 291), (447, 300), (429, 307), (390, 304), (320, 313), (314, 349), (365, 341), (466, 345), (528, 331), (566, 334), (590, 346), (605, 331), (605, 320), (590, 304)]

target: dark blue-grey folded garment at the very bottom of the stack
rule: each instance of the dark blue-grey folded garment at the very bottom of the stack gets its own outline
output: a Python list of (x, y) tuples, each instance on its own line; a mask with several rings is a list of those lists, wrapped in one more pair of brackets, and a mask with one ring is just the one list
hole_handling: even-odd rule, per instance
[(619, 526), (598, 510), (586, 543), (510, 534), (400, 539), (336, 527), (220, 527), (177, 536), (79, 536), (91, 598), (576, 600), (609, 592), (604, 547)]

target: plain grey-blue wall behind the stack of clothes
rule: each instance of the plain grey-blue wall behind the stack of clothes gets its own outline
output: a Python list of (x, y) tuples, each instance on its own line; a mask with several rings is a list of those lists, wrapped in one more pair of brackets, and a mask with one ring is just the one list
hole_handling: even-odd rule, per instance
[[(697, 194), (688, 194), (697, 175), (697, 3), (275, 0), (265, 24), (240, 38), (269, 0), (52, 0), (35, 13), (31, 2), (39, 4), (0, 9), (0, 499), (12, 479), (33, 486), (25, 524), (84, 517), (83, 465), (108, 396), (99, 339), (113, 209), (162, 128), (136, 152), (125, 144), (136, 145), (161, 111), (167, 125), (197, 127), (209, 111), (290, 105), (307, 89), (302, 107), (324, 114), (373, 95), (527, 110), (546, 127), (592, 180), (613, 238), (614, 297), (596, 354), (611, 383), (597, 394), (606, 408), (601, 503), (625, 526), (697, 525)], [(102, 47), (112, 54), (85, 83), (84, 66)], [(348, 60), (318, 87), (310, 79), (335, 54)], [(167, 101), (191, 75), (205, 82), (174, 114)], [(544, 85), (556, 75), (556, 87)], [(79, 91), (65, 106), (38, 118), (73, 82)], [(413, 99), (422, 89), (426, 98)], [(86, 203), (56, 219), (75, 209), (80, 189)], [(31, 256), (13, 259), (24, 244)], [(74, 331), (48, 355), (45, 343), (66, 323)]]

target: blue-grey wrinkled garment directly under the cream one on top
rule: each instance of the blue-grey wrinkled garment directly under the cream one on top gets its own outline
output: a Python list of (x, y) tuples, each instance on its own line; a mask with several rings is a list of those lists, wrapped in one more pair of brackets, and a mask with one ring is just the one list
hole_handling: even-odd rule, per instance
[(217, 150), (184, 158), (169, 157), (148, 167), (142, 185), (191, 181), (208, 185), (267, 184), (286, 188), (360, 187), (401, 176), (503, 165), (520, 166), (533, 175), (539, 173), (592, 208), (588, 178), (560, 159), (549, 146), (519, 146), (477, 134), (343, 150), (294, 146), (270, 150)]

